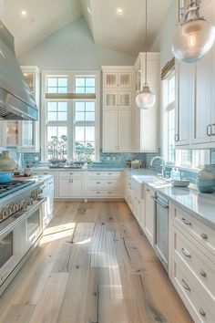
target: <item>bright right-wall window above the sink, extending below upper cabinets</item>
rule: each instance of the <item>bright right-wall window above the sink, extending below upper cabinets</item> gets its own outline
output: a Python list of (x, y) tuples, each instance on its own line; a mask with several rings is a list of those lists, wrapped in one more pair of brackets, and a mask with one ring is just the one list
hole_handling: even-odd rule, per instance
[(163, 80), (164, 151), (169, 165), (199, 169), (210, 163), (210, 150), (175, 150), (175, 73)]

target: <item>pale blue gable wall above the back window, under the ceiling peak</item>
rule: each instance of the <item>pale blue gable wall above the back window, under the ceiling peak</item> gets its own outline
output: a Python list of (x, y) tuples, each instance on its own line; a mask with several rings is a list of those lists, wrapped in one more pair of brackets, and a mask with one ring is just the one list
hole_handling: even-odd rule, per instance
[(98, 69), (102, 65), (133, 65), (136, 57), (94, 44), (84, 18), (58, 30), (18, 57), (20, 65), (40, 69)]

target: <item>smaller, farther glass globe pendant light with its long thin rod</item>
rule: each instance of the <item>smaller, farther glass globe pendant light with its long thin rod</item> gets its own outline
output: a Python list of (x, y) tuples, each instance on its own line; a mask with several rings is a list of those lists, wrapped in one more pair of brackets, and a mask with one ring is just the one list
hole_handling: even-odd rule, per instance
[[(145, 44), (147, 44), (147, 8), (148, 8), (148, 0), (146, 0), (146, 36), (145, 36)], [(148, 87), (147, 83), (147, 51), (145, 54), (145, 82), (141, 91), (138, 93), (136, 97), (136, 103), (139, 109), (149, 109), (152, 108), (155, 104), (156, 96), (152, 93)]]

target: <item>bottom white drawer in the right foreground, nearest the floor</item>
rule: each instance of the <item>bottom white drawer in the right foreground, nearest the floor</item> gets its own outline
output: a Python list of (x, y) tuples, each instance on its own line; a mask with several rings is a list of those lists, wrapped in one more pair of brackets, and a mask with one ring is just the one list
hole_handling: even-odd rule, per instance
[(189, 313), (195, 323), (214, 322), (213, 302), (203, 297), (189, 273), (177, 261), (174, 261), (173, 284), (179, 292), (179, 296), (189, 309)]

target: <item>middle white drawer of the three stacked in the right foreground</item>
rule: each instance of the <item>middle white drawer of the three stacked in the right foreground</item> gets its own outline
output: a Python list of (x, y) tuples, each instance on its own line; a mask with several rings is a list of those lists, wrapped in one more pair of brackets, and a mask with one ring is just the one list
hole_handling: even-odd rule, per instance
[(193, 245), (177, 228), (172, 226), (174, 256), (188, 267), (191, 275), (215, 300), (215, 264)]

